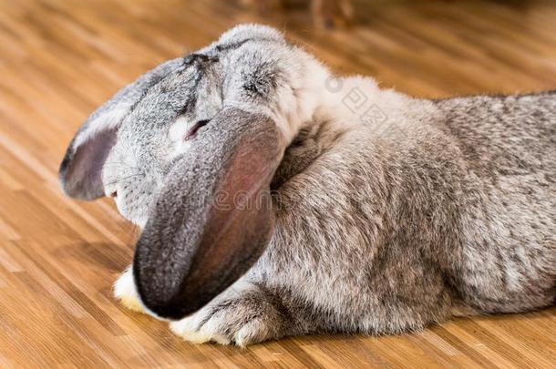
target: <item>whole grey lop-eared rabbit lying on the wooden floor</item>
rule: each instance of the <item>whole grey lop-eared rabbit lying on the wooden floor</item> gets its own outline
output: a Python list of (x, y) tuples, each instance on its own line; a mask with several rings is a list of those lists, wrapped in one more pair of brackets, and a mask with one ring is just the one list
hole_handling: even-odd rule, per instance
[(556, 298), (556, 91), (408, 97), (235, 26), (98, 108), (59, 177), (141, 229), (118, 300), (194, 343)]

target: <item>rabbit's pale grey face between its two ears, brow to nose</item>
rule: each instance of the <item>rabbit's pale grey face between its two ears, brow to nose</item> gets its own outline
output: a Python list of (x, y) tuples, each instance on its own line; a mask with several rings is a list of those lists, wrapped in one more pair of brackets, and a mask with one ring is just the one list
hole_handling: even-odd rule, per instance
[(221, 109), (218, 66), (187, 60), (150, 87), (118, 129), (102, 169), (105, 194), (119, 212), (143, 227), (172, 161)]

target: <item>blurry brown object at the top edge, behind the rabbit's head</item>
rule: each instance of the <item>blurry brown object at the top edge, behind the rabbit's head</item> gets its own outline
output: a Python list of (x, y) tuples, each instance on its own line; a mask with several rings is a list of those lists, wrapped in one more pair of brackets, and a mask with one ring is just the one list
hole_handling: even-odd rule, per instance
[(240, 3), (262, 12), (303, 6), (310, 11), (312, 22), (317, 28), (346, 26), (355, 15), (351, 0), (240, 0)]

